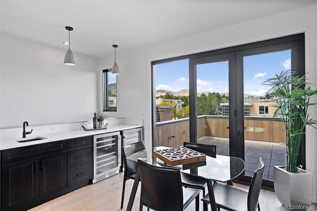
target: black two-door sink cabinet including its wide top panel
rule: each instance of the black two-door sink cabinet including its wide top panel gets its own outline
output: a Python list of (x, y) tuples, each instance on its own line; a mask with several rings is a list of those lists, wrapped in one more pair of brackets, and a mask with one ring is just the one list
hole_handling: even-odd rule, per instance
[(1, 162), (2, 211), (27, 210), (66, 193), (66, 141), (3, 150)]

